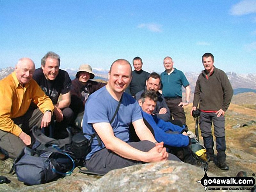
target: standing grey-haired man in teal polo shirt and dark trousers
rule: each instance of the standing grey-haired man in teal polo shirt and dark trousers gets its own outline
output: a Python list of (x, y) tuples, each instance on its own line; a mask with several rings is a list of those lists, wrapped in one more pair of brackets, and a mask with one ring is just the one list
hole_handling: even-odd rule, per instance
[[(164, 58), (165, 71), (161, 73), (162, 94), (165, 98), (168, 108), (171, 111), (171, 116), (174, 120), (180, 120), (186, 126), (186, 116), (184, 106), (188, 105), (190, 98), (190, 86), (187, 78), (182, 71), (173, 67), (171, 57)], [(182, 86), (186, 90), (186, 101), (182, 101)]]

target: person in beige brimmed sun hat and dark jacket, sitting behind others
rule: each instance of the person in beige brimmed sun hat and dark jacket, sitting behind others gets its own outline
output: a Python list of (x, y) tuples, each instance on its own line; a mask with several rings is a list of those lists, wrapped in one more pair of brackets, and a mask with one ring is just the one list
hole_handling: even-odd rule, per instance
[[(72, 80), (70, 108), (78, 118), (83, 117), (85, 102), (89, 95), (106, 85), (105, 83), (90, 80), (94, 77), (95, 74), (92, 72), (92, 67), (89, 64), (82, 64), (79, 66), (75, 79)], [(75, 124), (76, 122), (78, 122), (77, 118)], [(80, 127), (80, 123), (76, 126)]]

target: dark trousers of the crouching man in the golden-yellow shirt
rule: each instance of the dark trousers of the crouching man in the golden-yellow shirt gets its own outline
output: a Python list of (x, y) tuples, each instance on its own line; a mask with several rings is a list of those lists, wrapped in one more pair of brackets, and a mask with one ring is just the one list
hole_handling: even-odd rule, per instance
[[(18, 125), (22, 129), (23, 132), (31, 136), (31, 142), (33, 142), (34, 138), (32, 136), (31, 129), (34, 125), (41, 127), (42, 118), (43, 113), (38, 108), (30, 108), (25, 115), (13, 118), (12, 120), (14, 121), (14, 124)], [(24, 142), (16, 135), (0, 130), (0, 148), (7, 151), (10, 158), (17, 158), (24, 145)]]

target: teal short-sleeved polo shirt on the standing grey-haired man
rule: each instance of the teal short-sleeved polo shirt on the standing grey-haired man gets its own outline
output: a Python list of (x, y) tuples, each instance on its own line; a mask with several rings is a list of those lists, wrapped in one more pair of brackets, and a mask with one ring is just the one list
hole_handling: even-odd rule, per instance
[(185, 88), (189, 85), (184, 73), (174, 68), (170, 75), (164, 71), (160, 76), (164, 98), (182, 98), (181, 87)]

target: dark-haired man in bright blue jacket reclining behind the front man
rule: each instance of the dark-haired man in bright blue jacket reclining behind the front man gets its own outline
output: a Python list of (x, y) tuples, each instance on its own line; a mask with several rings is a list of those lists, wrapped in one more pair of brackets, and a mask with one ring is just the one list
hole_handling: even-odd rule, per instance
[[(171, 122), (166, 122), (153, 114), (157, 104), (157, 94), (155, 91), (144, 91), (139, 100), (142, 109), (142, 117), (147, 126), (154, 131), (154, 136), (157, 142), (164, 142), (167, 151), (174, 153), (183, 162), (196, 165), (197, 160), (193, 157), (190, 145), (190, 138), (184, 128), (174, 125)], [(168, 150), (169, 149), (169, 150)]]

